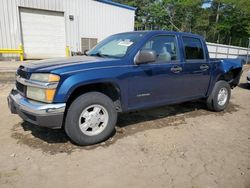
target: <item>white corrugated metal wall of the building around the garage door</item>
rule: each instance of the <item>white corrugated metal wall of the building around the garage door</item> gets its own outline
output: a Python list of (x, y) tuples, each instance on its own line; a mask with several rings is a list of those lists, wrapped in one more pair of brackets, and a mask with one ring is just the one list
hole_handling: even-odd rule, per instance
[(133, 10), (94, 0), (0, 0), (0, 48), (18, 48), (22, 42), (19, 7), (64, 12), (66, 44), (72, 51), (81, 51), (81, 38), (100, 41), (134, 29)]

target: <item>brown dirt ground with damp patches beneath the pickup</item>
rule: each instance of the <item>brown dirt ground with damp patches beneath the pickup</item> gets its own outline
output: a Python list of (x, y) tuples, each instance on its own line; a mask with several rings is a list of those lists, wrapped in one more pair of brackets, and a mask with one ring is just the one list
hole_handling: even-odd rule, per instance
[(0, 83), (0, 187), (250, 187), (246, 71), (225, 112), (201, 101), (123, 114), (90, 147), (11, 115)]

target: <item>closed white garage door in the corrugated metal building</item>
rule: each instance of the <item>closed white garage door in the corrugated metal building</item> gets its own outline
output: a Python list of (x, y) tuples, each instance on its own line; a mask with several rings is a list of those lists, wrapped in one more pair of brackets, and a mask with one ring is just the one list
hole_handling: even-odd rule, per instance
[(26, 59), (65, 57), (65, 22), (61, 12), (20, 9)]

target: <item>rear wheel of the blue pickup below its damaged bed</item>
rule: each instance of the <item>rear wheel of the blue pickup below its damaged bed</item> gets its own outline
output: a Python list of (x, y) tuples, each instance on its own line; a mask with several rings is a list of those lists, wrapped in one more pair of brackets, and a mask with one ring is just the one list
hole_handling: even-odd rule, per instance
[[(223, 95), (223, 93), (225, 95)], [(220, 97), (220, 100), (218, 99)], [(223, 97), (226, 96), (226, 97)], [(231, 88), (230, 85), (223, 80), (216, 82), (212, 93), (207, 98), (207, 107), (209, 110), (220, 112), (226, 109), (228, 106), (229, 100), (231, 97)]]

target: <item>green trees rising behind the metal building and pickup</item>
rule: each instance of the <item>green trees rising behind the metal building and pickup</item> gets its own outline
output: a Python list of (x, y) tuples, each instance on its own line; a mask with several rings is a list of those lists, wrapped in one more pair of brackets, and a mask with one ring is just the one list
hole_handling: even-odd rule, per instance
[(246, 47), (250, 0), (114, 0), (137, 7), (135, 30), (175, 30)]

